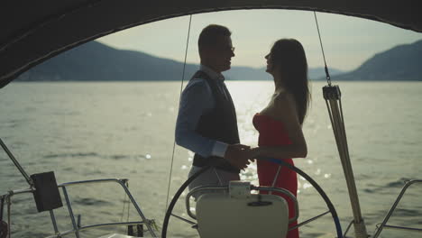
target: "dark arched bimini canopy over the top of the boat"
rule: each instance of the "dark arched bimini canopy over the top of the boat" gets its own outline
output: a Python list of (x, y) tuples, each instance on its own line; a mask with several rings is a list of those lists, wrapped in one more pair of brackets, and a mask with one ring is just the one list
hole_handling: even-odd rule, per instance
[[(412, 2), (414, 4), (412, 4)], [(0, 7), (0, 88), (33, 66), (87, 41), (143, 23), (238, 9), (295, 9), (353, 15), (422, 32), (417, 1), (42, 0)]]

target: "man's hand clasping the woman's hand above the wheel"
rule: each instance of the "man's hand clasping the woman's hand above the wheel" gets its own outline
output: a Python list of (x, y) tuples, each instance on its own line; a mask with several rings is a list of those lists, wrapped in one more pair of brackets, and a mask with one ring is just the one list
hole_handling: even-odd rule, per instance
[(252, 159), (251, 147), (244, 144), (230, 144), (225, 151), (228, 160), (237, 169), (245, 169)]

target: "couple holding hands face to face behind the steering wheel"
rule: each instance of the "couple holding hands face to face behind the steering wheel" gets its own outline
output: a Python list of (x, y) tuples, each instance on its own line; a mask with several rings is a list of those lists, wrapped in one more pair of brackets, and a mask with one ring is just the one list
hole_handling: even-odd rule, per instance
[[(201, 66), (181, 96), (176, 142), (195, 152), (189, 176), (206, 165), (219, 164), (192, 181), (189, 189), (240, 180), (240, 170), (245, 169), (250, 160), (261, 156), (290, 164), (293, 164), (291, 158), (307, 156), (301, 128), (310, 95), (307, 59), (302, 45), (296, 40), (282, 39), (276, 41), (265, 56), (266, 71), (274, 78), (275, 92), (269, 105), (252, 118), (260, 135), (259, 146), (251, 148), (240, 143), (234, 104), (221, 74), (230, 69), (230, 60), (234, 57), (230, 36), (231, 32), (225, 26), (212, 24), (203, 29), (198, 40)], [(281, 167), (273, 184), (279, 165), (265, 160), (257, 160), (257, 165), (260, 186), (286, 188), (297, 195), (298, 181), (294, 171)], [(289, 198), (285, 199), (289, 204), (289, 216), (292, 216), (293, 203)], [(290, 231), (288, 237), (298, 237), (298, 229)]]

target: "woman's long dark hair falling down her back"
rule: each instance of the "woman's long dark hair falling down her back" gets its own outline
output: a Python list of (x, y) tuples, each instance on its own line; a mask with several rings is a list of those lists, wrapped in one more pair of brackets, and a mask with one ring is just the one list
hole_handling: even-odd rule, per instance
[(310, 102), (307, 80), (307, 56), (295, 39), (281, 39), (271, 48), (271, 62), (279, 66), (281, 84), (295, 97), (299, 123), (303, 124)]

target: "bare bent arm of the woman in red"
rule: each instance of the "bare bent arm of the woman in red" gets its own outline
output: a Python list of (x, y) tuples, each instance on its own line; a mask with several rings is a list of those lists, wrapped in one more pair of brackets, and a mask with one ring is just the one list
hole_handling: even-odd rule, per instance
[(293, 96), (282, 93), (274, 99), (274, 119), (282, 122), (289, 134), (289, 145), (260, 146), (252, 149), (254, 158), (271, 157), (275, 159), (307, 157), (307, 142), (298, 121), (298, 112)]

